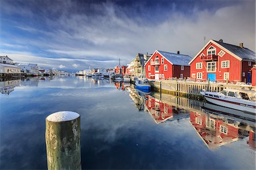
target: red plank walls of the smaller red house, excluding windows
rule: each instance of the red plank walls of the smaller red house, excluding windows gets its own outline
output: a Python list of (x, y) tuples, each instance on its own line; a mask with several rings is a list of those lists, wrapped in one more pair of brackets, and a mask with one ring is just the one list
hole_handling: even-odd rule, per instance
[[(156, 65), (150, 65), (151, 64), (151, 59), (153, 62), (155, 61), (155, 57), (158, 56), (159, 59), (159, 73), (155, 73), (155, 66)], [(190, 68), (189, 66), (184, 66), (184, 71), (180, 70), (180, 65), (172, 65), (168, 60), (164, 58), (164, 64), (162, 64), (162, 57), (158, 52), (155, 52), (154, 55), (148, 60), (147, 64), (145, 65), (145, 70), (146, 70), (146, 77), (155, 79), (154, 76), (155, 74), (164, 74), (164, 78), (171, 78), (171, 77), (177, 77), (180, 78), (180, 74), (183, 73), (183, 77), (189, 77), (190, 75)], [(164, 71), (164, 65), (167, 64), (167, 71)], [(150, 65), (150, 71), (148, 71), (148, 65)], [(151, 77), (148, 77), (148, 73), (151, 73)], [(159, 75), (159, 80), (163, 79)]]

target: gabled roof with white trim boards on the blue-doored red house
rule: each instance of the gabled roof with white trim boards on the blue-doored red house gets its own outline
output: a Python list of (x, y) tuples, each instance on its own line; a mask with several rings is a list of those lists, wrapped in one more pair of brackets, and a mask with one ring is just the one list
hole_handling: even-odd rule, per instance
[(200, 51), (193, 57), (193, 59), (189, 62), (189, 64), (192, 63), (196, 59), (198, 55), (209, 45), (209, 43), (213, 43), (217, 47), (224, 49), (224, 51), (228, 52), (230, 55), (234, 56), (236, 59), (242, 61), (242, 60), (256, 60), (255, 52), (251, 51), (248, 48), (241, 48), (237, 45), (227, 44), (223, 42), (218, 42), (216, 40), (210, 39), (208, 43), (204, 45), (203, 48), (200, 49)]

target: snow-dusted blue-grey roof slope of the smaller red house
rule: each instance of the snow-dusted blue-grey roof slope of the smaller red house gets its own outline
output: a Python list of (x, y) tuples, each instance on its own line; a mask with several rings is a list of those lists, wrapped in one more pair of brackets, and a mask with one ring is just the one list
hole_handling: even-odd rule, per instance
[(164, 52), (159, 50), (158, 52), (164, 57), (166, 57), (167, 60), (171, 61), (171, 63), (174, 65), (189, 65), (188, 63), (192, 59), (188, 55), (180, 55), (177, 53)]

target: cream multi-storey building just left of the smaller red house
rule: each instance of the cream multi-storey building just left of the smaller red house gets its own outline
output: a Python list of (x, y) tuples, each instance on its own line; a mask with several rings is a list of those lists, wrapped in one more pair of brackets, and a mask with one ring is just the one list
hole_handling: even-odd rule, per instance
[(129, 64), (129, 75), (134, 77), (142, 77), (145, 71), (144, 64), (150, 57), (151, 55), (138, 53), (135, 59)]

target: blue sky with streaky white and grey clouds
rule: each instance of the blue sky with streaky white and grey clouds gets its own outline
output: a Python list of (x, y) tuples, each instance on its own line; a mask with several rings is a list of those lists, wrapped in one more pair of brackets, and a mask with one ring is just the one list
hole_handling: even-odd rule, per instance
[(255, 51), (255, 0), (1, 0), (0, 18), (1, 56), (69, 72), (156, 49), (194, 57), (209, 39)]

